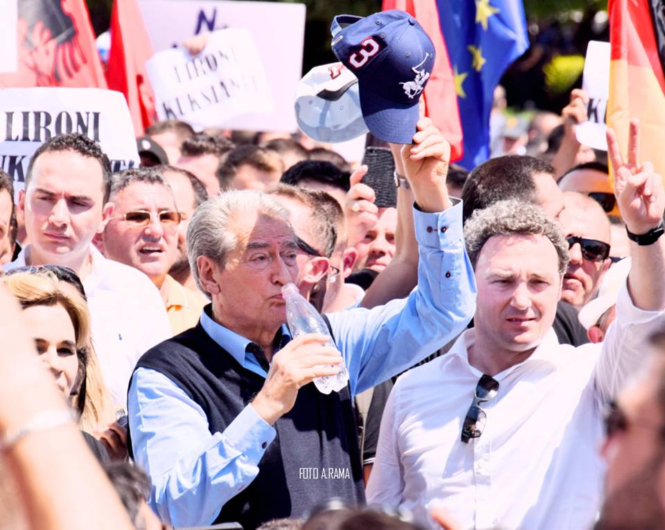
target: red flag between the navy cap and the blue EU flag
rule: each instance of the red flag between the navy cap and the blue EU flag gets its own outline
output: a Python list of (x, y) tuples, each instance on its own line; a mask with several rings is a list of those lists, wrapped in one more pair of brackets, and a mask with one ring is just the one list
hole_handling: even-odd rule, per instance
[(434, 43), (436, 58), (434, 69), (425, 87), (425, 106), (427, 116), (443, 133), (450, 143), (450, 159), (462, 157), (462, 124), (457, 106), (454, 76), (448, 51), (438, 24), (436, 2), (425, 0), (383, 0), (383, 10), (400, 9), (406, 11), (418, 21)]

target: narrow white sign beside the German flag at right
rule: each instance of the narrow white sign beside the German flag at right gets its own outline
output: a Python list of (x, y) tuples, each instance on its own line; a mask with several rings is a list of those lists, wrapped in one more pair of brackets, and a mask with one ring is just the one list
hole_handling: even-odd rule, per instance
[(610, 43), (589, 41), (584, 62), (582, 88), (589, 95), (587, 105), (588, 121), (575, 130), (577, 141), (594, 149), (608, 150), (605, 139), (607, 125), (605, 115), (608, 109), (610, 91)]

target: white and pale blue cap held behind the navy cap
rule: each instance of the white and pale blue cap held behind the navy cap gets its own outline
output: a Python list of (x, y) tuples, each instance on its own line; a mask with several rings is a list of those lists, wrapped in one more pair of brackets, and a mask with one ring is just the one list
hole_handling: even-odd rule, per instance
[(300, 130), (317, 141), (344, 142), (369, 132), (358, 80), (341, 62), (312, 68), (300, 80), (295, 109)]

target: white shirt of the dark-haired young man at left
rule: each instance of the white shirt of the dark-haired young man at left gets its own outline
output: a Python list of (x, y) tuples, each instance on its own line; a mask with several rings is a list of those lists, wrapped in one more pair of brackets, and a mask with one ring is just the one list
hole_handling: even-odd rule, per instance
[[(26, 265), (30, 245), (5, 270)], [(159, 290), (143, 272), (105, 258), (90, 245), (91, 272), (82, 281), (92, 342), (114, 403), (127, 407), (127, 388), (139, 357), (173, 334)], [(29, 259), (28, 259), (29, 261)]]

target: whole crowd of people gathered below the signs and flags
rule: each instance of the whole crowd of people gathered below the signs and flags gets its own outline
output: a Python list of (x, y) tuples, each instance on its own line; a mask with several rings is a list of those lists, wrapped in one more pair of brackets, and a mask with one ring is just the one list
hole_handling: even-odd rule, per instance
[(0, 170), (0, 529), (664, 528), (662, 177), (583, 91), (496, 97), (469, 172), (424, 114), (362, 164), (163, 121)]

